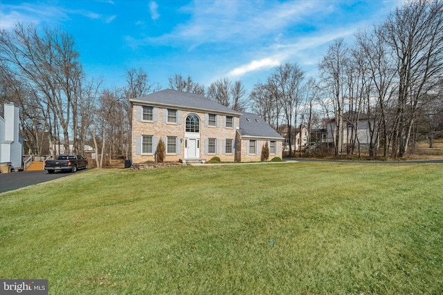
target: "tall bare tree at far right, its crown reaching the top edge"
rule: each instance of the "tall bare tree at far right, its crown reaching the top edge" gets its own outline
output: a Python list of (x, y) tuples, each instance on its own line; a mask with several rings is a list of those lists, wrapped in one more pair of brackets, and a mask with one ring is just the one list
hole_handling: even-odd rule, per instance
[(397, 61), (392, 155), (405, 157), (417, 112), (443, 76), (443, 1), (406, 2), (390, 13), (381, 29)]

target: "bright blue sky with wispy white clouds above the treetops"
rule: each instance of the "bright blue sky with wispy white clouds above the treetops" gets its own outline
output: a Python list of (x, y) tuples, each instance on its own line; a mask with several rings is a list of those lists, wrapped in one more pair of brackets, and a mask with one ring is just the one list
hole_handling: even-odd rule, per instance
[(75, 38), (89, 77), (125, 86), (125, 71), (143, 68), (150, 82), (190, 75), (206, 87), (240, 79), (251, 91), (285, 62), (315, 76), (327, 46), (383, 20), (403, 0), (386, 1), (6, 1), (0, 28), (17, 21), (60, 27)]

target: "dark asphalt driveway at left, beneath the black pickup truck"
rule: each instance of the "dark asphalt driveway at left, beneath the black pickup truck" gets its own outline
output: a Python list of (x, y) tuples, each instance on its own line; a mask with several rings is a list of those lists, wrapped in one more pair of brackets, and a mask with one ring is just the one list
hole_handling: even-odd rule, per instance
[[(77, 171), (76, 173), (81, 173), (81, 171), (84, 170)], [(48, 174), (48, 172), (46, 171), (0, 173), (0, 193), (13, 191), (14, 189), (28, 187), (31, 184), (46, 182), (69, 175), (73, 175), (73, 173), (64, 171), (56, 172), (53, 174)]]

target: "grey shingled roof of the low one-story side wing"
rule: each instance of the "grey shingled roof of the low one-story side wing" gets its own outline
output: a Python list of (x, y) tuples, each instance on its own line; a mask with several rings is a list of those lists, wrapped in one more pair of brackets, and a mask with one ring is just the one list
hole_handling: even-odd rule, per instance
[(242, 137), (265, 137), (283, 140), (282, 135), (254, 113), (242, 113), (238, 132)]

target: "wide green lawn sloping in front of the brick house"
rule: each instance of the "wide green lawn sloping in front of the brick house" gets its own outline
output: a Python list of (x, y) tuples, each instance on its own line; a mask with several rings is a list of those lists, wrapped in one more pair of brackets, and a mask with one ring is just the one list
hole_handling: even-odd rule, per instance
[(441, 294), (443, 169), (91, 170), (0, 195), (0, 278), (50, 294)]

